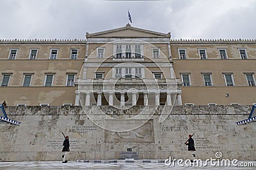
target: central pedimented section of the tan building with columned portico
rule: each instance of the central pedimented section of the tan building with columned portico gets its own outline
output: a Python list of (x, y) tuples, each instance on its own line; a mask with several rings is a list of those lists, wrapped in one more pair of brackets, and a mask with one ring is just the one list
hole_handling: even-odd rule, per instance
[[(76, 105), (182, 105), (170, 33), (131, 27), (86, 34)], [(80, 102), (79, 102), (80, 101)]]

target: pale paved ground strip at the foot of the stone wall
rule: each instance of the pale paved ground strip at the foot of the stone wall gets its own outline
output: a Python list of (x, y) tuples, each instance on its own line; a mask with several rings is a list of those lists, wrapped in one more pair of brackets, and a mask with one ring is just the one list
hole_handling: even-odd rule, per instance
[[(35, 161), (35, 162), (0, 162), (1, 170), (14, 169), (256, 169), (256, 161), (253, 167), (221, 167), (207, 164), (205, 167), (186, 166), (166, 166), (164, 163), (93, 163), (93, 162), (68, 162), (63, 164), (56, 161)], [(241, 162), (237, 162), (240, 164)]]

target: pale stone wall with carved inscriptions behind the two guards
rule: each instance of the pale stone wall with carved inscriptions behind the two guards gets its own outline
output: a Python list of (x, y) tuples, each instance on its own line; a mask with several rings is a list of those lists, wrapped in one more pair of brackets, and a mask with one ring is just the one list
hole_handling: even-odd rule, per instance
[[(189, 152), (184, 142), (193, 132), (196, 159), (214, 159), (215, 153), (221, 152), (223, 159), (255, 160), (256, 125), (236, 125), (248, 118), (251, 108), (175, 106), (166, 120), (159, 122), (162, 106), (156, 112), (148, 108), (140, 117), (138, 113), (143, 106), (129, 110), (109, 106), (84, 110), (81, 106), (11, 106), (6, 108), (8, 118), (21, 125), (0, 122), (0, 161), (61, 160), (61, 131), (70, 136), (68, 160), (122, 159), (129, 152), (138, 159), (168, 159), (169, 156), (185, 159)], [(100, 120), (103, 117), (99, 109), (108, 113), (109, 119), (105, 122)], [(150, 111), (152, 117), (147, 114)], [(103, 122), (99, 124), (107, 128), (127, 126), (129, 121), (138, 128), (126, 132), (107, 131), (93, 124), (84, 112), (90, 113), (91, 118), (92, 114), (100, 115), (99, 122)]]

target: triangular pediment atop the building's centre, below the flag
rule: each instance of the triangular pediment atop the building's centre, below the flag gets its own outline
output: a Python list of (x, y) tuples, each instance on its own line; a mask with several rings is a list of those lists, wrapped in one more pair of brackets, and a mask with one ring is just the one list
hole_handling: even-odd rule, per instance
[(132, 27), (130, 24), (118, 29), (111, 29), (108, 31), (88, 33), (86, 38), (170, 38), (170, 32), (167, 34), (155, 31), (148, 31)]

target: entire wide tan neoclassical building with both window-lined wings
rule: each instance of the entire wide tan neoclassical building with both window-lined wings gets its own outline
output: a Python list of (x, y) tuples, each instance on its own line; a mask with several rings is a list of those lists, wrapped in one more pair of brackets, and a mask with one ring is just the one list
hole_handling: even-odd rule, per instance
[(172, 39), (125, 25), (86, 39), (0, 39), (8, 106), (256, 103), (255, 39)]

